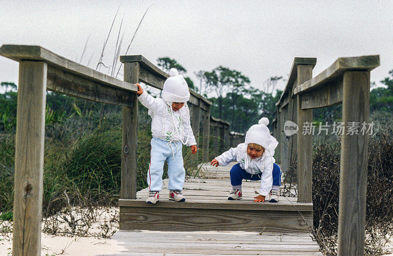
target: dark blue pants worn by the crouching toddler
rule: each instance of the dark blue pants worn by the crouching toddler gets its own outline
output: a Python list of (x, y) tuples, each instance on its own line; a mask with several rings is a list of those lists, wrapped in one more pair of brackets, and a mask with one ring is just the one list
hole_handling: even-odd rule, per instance
[[(276, 163), (273, 164), (273, 189), (278, 190), (281, 186), (281, 169), (280, 166)], [(230, 175), (230, 184), (233, 189), (242, 189), (242, 180), (261, 180), (260, 174), (250, 174), (246, 172), (242, 167), (240, 167), (240, 163), (235, 164), (229, 172)]]

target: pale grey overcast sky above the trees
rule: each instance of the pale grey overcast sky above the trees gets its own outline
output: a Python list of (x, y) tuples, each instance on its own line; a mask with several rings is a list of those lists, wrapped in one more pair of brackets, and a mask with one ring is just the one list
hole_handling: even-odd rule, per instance
[[(127, 55), (154, 64), (158, 57), (174, 58), (196, 85), (195, 72), (223, 65), (258, 87), (272, 76), (286, 78), (294, 57), (316, 57), (313, 76), (347, 56), (380, 55), (371, 81), (393, 69), (392, 0), (0, 0), (0, 44), (39, 45), (79, 62), (88, 39), (81, 64), (91, 57), (88, 66), (95, 69), (119, 6), (104, 52), (107, 66), (121, 19), (124, 55), (150, 6)], [(17, 62), (0, 56), (0, 81), (18, 83)]]

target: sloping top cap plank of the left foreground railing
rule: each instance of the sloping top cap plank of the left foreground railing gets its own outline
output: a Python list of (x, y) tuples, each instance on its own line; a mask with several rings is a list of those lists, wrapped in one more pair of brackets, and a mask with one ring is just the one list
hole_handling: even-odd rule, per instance
[(91, 68), (83, 66), (72, 60), (59, 56), (52, 51), (48, 51), (40, 46), (32, 45), (2, 45), (0, 55), (16, 60), (38, 60), (45, 61), (48, 66), (66, 71), (67, 73), (83, 77), (93, 82), (110, 85), (121, 90), (134, 90), (135, 85), (110, 77)]

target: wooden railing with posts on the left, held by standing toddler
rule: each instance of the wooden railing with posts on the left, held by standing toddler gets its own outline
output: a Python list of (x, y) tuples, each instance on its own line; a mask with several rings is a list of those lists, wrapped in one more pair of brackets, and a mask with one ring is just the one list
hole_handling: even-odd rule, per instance
[[(2, 45), (0, 54), (19, 62), (13, 255), (40, 255), (47, 90), (123, 106), (120, 198), (135, 199), (138, 144), (135, 83), (144, 82), (162, 89), (168, 74), (141, 55), (120, 57), (124, 63), (124, 81), (121, 81), (39, 46)], [(202, 130), (200, 148), (203, 149), (202, 159), (207, 161), (211, 125), (215, 136), (221, 138), (215, 141), (237, 143), (240, 136), (230, 135), (227, 122), (210, 116), (211, 102), (191, 90), (190, 93), (191, 125), (197, 142), (199, 130)], [(220, 146), (216, 149), (225, 150), (226, 144), (218, 143)]]

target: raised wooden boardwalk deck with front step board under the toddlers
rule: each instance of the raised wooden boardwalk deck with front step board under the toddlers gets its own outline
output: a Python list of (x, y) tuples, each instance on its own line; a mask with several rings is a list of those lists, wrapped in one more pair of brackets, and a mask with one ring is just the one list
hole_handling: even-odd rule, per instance
[(203, 164), (199, 178), (184, 184), (186, 202), (168, 200), (167, 179), (156, 205), (145, 203), (147, 189), (139, 191), (136, 200), (120, 199), (120, 230), (309, 232), (312, 203), (297, 203), (293, 197), (280, 197), (279, 203), (254, 203), (259, 181), (243, 182), (243, 199), (227, 200), (232, 165)]

